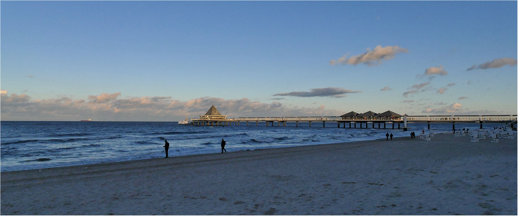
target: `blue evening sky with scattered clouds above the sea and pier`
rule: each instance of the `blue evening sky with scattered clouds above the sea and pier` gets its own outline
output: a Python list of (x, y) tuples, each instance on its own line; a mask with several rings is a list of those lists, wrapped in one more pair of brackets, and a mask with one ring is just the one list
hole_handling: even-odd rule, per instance
[(516, 1), (0, 4), (2, 120), (517, 110)]

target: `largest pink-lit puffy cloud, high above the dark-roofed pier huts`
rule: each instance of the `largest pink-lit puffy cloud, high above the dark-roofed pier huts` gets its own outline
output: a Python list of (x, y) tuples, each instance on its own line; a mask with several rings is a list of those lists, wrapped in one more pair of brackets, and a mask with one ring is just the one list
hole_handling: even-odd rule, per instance
[(373, 50), (367, 48), (367, 52), (357, 56), (347, 58), (347, 55), (349, 55), (348, 53), (337, 60), (330, 60), (329, 65), (357, 65), (363, 63), (367, 66), (373, 66), (382, 63), (383, 60), (393, 59), (397, 53), (401, 52), (408, 53), (408, 50), (405, 48), (399, 48), (397, 45), (387, 47), (381, 47), (381, 45), (378, 45)]

